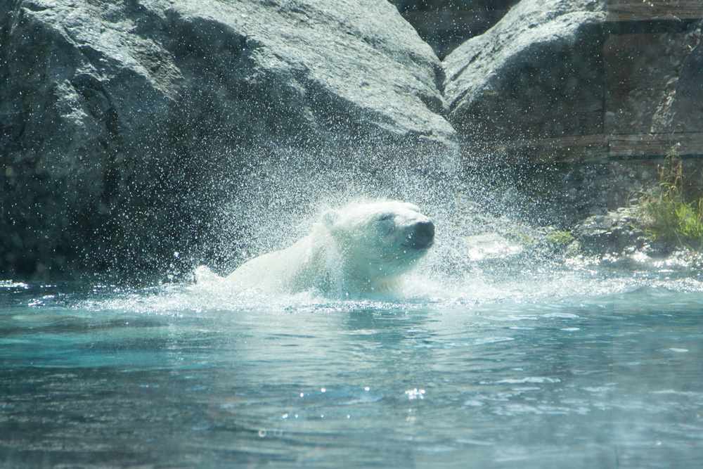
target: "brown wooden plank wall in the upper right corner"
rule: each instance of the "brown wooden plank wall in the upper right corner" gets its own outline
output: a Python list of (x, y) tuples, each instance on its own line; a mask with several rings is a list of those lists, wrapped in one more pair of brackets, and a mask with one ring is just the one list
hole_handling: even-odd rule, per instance
[(703, 20), (703, 2), (614, 0), (606, 12), (603, 137), (608, 160), (661, 159), (673, 151), (681, 158), (703, 156), (703, 133), (652, 133), (652, 117), (666, 87), (695, 46), (681, 33)]

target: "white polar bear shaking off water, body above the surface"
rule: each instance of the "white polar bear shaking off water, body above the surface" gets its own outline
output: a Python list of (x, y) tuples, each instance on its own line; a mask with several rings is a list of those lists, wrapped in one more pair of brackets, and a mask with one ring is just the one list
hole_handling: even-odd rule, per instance
[(434, 224), (410, 203), (384, 201), (329, 210), (310, 233), (251, 259), (226, 281), (269, 292), (354, 295), (394, 290), (434, 243)]

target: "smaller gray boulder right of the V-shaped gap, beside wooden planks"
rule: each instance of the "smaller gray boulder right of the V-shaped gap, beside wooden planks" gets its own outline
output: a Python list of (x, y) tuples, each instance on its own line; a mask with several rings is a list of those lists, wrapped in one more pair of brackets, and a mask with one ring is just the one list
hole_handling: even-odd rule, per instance
[(602, 1), (522, 0), (444, 60), (449, 121), (467, 140), (602, 129)]

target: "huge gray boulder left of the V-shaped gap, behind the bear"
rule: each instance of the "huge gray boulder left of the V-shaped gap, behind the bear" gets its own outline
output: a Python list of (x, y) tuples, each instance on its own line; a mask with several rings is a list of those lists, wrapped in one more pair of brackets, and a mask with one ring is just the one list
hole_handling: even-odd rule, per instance
[(264, 163), (456, 150), (439, 60), (382, 1), (0, 1), (0, 44), (10, 275), (187, 262)]

